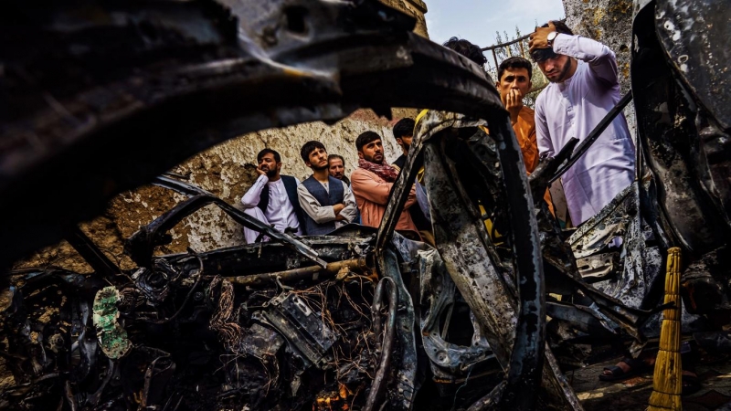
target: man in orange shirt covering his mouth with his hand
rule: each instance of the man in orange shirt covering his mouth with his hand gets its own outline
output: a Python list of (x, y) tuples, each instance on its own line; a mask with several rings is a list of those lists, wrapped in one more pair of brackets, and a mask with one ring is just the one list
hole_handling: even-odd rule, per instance
[[(538, 165), (538, 142), (535, 138), (535, 111), (523, 105), (523, 98), (531, 90), (533, 66), (522, 57), (506, 58), (497, 68), (497, 90), (505, 110), (510, 113), (510, 122), (513, 124), (515, 137), (523, 153), (525, 171), (533, 173)], [(551, 214), (554, 207), (551, 204), (551, 195), (546, 190), (544, 195)]]

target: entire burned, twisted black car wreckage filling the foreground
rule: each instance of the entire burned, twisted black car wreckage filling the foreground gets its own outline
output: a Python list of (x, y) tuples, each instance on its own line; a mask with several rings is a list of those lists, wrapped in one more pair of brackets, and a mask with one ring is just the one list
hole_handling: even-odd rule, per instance
[[(16, 385), (0, 406), (581, 409), (562, 365), (592, 338), (637, 353), (657, 332), (667, 248), (687, 256), (683, 315), (731, 308), (722, 3), (635, 5), (642, 165), (573, 233), (531, 193), (600, 130), (528, 178), (492, 80), (376, 1), (5, 3), (0, 352)], [(244, 132), (391, 107), (431, 111), (377, 230), (292, 237), (157, 176)], [(395, 232), (422, 167), (436, 248)], [(148, 182), (187, 199), (128, 239), (138, 268), (122, 271), (75, 224)], [(211, 204), (271, 241), (155, 254)], [(9, 269), (60, 238), (94, 274)]]

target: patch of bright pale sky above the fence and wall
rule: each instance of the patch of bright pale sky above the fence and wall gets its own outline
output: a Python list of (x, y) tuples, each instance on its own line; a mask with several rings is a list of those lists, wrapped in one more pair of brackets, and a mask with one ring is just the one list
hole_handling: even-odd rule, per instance
[(429, 8), (429, 38), (444, 43), (450, 37), (465, 38), (480, 47), (493, 46), (495, 31), (514, 37), (529, 34), (535, 23), (566, 16), (561, 0), (424, 0)]

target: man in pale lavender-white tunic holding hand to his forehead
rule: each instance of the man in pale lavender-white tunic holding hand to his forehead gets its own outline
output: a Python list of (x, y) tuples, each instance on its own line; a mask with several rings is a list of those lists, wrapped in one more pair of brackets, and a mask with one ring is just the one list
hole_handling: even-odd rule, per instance
[[(550, 81), (535, 100), (538, 152), (553, 157), (571, 138), (587, 138), (620, 100), (617, 59), (609, 47), (556, 21), (535, 28), (530, 53)], [(633, 179), (634, 144), (620, 114), (561, 177), (572, 223), (599, 214)]]

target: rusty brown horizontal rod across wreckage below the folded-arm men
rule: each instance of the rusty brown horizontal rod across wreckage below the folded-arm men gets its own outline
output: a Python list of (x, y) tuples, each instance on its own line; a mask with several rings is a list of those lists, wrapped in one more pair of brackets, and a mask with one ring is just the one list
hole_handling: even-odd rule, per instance
[(325, 268), (320, 266), (304, 267), (302, 269), (287, 269), (284, 271), (268, 272), (264, 274), (255, 274), (251, 276), (229, 277), (228, 280), (232, 284), (257, 287), (275, 284), (277, 279), (282, 282), (296, 281), (299, 279), (317, 279), (322, 274), (333, 276), (341, 269), (356, 269), (359, 271), (370, 271), (373, 264), (368, 263), (370, 258), (361, 257), (353, 259), (344, 259), (342, 261), (334, 261), (327, 263)]

